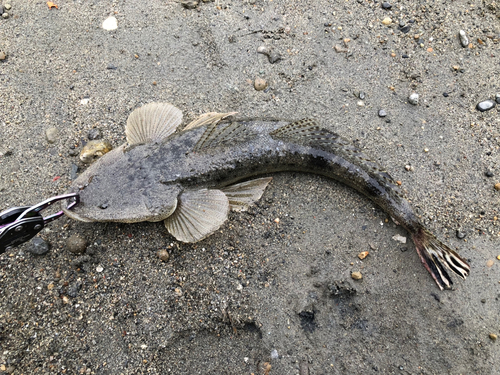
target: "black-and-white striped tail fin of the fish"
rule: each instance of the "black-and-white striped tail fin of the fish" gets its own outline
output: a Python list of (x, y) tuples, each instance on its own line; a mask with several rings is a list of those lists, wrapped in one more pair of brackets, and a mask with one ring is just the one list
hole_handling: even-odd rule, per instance
[(453, 284), (446, 269), (455, 272), (462, 279), (467, 277), (470, 271), (467, 262), (422, 225), (412, 233), (412, 238), (422, 263), (439, 289), (450, 288)]

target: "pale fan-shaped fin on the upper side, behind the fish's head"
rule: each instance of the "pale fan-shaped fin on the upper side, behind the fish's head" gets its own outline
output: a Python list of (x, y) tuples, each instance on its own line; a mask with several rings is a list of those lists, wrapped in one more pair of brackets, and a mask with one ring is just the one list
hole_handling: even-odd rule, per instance
[(175, 132), (182, 121), (180, 109), (168, 103), (149, 103), (134, 110), (127, 120), (129, 145), (161, 142)]

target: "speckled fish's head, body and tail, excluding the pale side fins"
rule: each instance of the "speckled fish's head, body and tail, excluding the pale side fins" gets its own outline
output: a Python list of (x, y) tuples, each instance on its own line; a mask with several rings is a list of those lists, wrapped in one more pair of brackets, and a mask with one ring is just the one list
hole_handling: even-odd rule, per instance
[(427, 270), (443, 289), (469, 266), (418, 221), (395, 181), (359, 149), (315, 122), (240, 120), (171, 134), (159, 143), (122, 145), (80, 175), (71, 191), (80, 205), (66, 213), (82, 221), (160, 221), (185, 191), (220, 189), (254, 176), (299, 171), (341, 181), (410, 232)]

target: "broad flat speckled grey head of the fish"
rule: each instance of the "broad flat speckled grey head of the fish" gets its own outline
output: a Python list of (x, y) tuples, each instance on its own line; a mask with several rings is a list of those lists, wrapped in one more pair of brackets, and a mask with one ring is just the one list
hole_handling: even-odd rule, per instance
[(143, 146), (129, 150), (115, 148), (85, 170), (72, 184), (80, 203), (63, 211), (72, 219), (85, 222), (161, 221), (177, 207), (182, 187), (160, 182), (154, 168), (144, 167)]

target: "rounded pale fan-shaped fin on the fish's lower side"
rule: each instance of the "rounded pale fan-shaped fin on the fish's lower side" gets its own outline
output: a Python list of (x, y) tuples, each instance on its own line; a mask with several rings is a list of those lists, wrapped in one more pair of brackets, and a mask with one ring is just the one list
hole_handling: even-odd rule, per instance
[(226, 221), (229, 199), (220, 190), (183, 192), (174, 213), (165, 219), (165, 227), (177, 240), (198, 242)]

